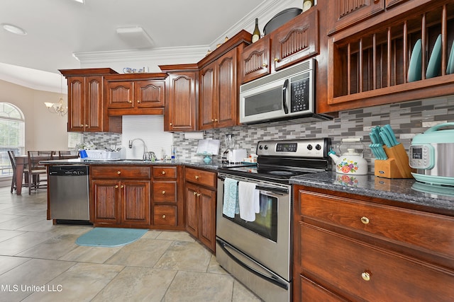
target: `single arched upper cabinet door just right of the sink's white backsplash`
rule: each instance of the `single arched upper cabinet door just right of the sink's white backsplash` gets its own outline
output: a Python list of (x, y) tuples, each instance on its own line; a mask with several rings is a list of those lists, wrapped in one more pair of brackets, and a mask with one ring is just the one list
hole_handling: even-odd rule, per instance
[(170, 74), (169, 101), (165, 102), (165, 131), (196, 130), (196, 72)]

